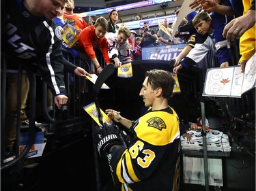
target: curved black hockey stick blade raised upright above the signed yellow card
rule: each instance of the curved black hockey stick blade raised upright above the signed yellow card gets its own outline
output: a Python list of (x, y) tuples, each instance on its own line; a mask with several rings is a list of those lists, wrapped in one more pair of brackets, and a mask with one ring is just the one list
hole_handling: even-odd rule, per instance
[(102, 69), (101, 73), (98, 75), (98, 78), (94, 84), (93, 96), (94, 99), (98, 98), (100, 93), (100, 88), (102, 84), (108, 79), (108, 77), (115, 71), (115, 66), (113, 64), (106, 65), (104, 69)]

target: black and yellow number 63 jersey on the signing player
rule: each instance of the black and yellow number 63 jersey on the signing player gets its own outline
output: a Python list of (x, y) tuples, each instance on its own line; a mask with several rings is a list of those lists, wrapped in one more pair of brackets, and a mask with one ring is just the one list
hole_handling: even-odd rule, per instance
[(175, 111), (150, 109), (131, 128), (130, 145), (111, 153), (111, 168), (122, 190), (178, 190), (180, 129)]

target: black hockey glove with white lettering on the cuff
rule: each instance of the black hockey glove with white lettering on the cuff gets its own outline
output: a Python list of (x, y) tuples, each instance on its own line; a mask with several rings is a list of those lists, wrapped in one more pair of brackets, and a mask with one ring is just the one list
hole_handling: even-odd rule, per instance
[(121, 139), (119, 137), (119, 132), (113, 125), (104, 125), (103, 128), (96, 127), (94, 132), (95, 143), (98, 148), (98, 153), (101, 157), (106, 156), (106, 152), (109, 151), (111, 145), (120, 145)]

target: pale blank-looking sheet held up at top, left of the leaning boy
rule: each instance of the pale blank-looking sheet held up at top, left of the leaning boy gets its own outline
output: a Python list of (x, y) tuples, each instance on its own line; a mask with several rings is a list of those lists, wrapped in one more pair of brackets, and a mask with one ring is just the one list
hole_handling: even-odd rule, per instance
[(173, 32), (171, 33), (171, 35), (174, 37), (175, 32), (177, 31), (177, 27), (179, 27), (180, 22), (182, 22), (182, 20), (188, 15), (190, 14), (190, 12), (193, 12), (197, 9), (197, 7), (195, 7), (194, 9), (191, 9), (191, 7), (189, 7), (189, 5), (191, 3), (193, 3), (195, 0), (185, 0), (182, 3), (182, 7), (180, 7), (180, 12), (177, 15), (177, 20), (175, 22), (175, 25), (173, 27)]

